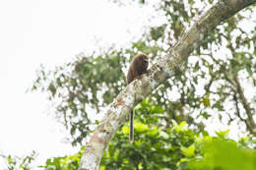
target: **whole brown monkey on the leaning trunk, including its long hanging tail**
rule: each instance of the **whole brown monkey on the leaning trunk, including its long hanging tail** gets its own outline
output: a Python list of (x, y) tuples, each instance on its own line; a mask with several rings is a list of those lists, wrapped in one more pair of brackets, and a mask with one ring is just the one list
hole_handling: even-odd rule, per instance
[[(140, 78), (142, 74), (145, 74), (147, 72), (148, 66), (149, 66), (149, 57), (146, 54), (141, 53), (134, 56), (126, 76), (127, 85), (129, 85), (135, 79)], [(130, 142), (134, 141), (133, 119), (134, 119), (134, 111), (132, 110), (130, 114), (130, 137), (129, 137)]]

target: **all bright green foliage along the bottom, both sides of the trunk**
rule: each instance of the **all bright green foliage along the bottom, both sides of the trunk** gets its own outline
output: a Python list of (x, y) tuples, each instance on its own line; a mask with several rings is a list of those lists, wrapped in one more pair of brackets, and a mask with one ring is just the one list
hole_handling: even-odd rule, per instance
[[(254, 170), (255, 145), (250, 138), (234, 142), (227, 131), (217, 137), (195, 133), (182, 122), (165, 130), (135, 122), (135, 142), (128, 140), (129, 128), (123, 126), (103, 154), (100, 170)], [(84, 148), (75, 155), (48, 159), (48, 170), (76, 170)]]

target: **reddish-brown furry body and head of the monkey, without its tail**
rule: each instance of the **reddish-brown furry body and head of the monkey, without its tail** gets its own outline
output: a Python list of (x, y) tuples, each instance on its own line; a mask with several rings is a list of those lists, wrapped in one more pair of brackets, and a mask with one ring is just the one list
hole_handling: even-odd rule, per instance
[(130, 84), (135, 79), (139, 78), (142, 74), (147, 72), (149, 66), (149, 58), (146, 54), (138, 54), (136, 55), (130, 65), (126, 82)]

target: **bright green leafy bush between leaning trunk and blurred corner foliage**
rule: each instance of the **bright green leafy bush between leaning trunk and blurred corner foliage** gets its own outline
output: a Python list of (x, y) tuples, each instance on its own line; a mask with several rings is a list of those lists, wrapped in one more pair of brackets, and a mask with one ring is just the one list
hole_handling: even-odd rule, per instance
[(186, 155), (195, 153), (198, 136), (186, 123), (162, 129), (135, 121), (135, 142), (128, 142), (129, 129), (123, 126), (104, 153), (100, 169), (176, 169)]

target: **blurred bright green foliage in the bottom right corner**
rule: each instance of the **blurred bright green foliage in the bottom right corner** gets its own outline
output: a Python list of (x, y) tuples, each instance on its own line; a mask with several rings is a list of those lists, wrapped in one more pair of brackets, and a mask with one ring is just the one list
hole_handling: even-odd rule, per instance
[(203, 158), (188, 163), (189, 169), (255, 170), (256, 150), (242, 148), (236, 142), (217, 139), (203, 145)]

